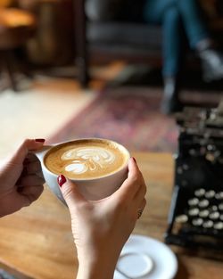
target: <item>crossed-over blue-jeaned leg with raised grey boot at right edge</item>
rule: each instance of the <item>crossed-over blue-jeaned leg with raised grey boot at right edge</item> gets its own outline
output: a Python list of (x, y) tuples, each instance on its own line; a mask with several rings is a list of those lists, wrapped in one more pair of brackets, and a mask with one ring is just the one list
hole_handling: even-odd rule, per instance
[(204, 80), (223, 78), (223, 55), (215, 49), (197, 0), (176, 0), (176, 4), (182, 17), (189, 45), (202, 60)]

